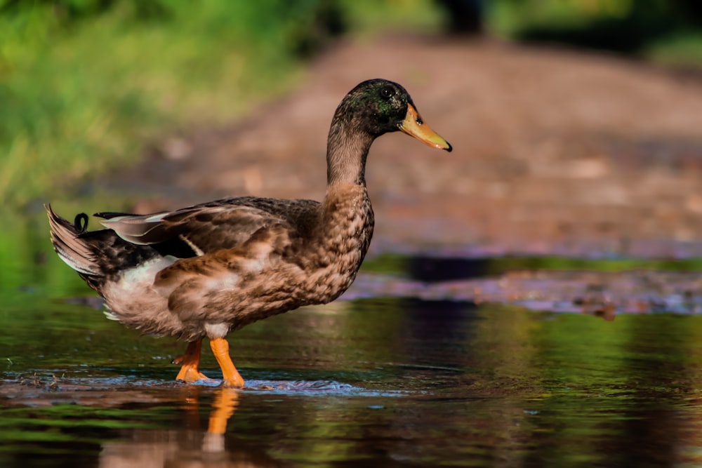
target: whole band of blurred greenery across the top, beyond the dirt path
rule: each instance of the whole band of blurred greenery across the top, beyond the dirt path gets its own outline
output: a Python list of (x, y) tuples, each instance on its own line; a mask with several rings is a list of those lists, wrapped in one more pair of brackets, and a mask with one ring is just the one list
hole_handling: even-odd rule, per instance
[[(65, 196), (178, 131), (241, 119), (299, 89), (349, 38), (479, 36), (688, 69), (702, 63), (701, 28), (693, 0), (3, 0), (0, 197)], [(331, 107), (319, 109), (327, 120)]]

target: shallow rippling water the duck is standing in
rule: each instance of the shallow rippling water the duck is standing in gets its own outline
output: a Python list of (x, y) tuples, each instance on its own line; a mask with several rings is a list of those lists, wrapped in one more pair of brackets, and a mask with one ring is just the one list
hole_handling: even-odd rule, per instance
[(342, 300), (230, 336), (239, 391), (207, 352), (213, 381), (174, 382), (183, 344), (107, 321), (41, 221), (13, 226), (1, 467), (702, 464), (694, 260), (371, 258)]

